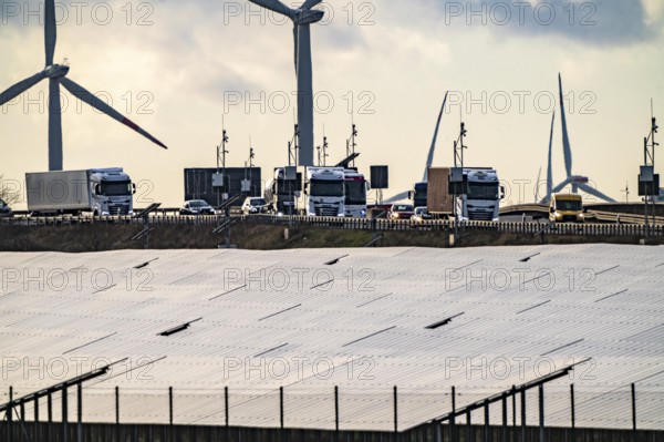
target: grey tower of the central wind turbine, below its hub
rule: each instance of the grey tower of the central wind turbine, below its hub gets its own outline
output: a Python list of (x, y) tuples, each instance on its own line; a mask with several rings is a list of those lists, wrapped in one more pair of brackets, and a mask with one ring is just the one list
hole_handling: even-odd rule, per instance
[(313, 73), (311, 68), (311, 31), (298, 25), (298, 129), (300, 130), (301, 166), (313, 165)]

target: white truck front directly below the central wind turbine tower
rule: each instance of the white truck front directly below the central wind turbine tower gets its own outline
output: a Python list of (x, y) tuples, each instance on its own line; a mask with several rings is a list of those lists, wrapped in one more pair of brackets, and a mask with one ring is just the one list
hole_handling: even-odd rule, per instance
[(308, 216), (345, 216), (343, 167), (307, 167), (304, 207)]

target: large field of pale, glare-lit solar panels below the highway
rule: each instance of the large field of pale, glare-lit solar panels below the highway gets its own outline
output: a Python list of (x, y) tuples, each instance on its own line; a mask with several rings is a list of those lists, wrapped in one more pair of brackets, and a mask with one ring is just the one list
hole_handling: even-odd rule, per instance
[(570, 425), (574, 383), (577, 426), (631, 428), (635, 383), (639, 428), (664, 430), (662, 250), (0, 254), (0, 403), (117, 362), (85, 421), (115, 422), (118, 387), (122, 422), (167, 423), (173, 387), (175, 423), (225, 424), (228, 388), (232, 425), (278, 426), (282, 387), (287, 426), (333, 429), (338, 387), (341, 429), (392, 430), (396, 386), (407, 429), (453, 386), (464, 407), (591, 358), (544, 387), (547, 425)]

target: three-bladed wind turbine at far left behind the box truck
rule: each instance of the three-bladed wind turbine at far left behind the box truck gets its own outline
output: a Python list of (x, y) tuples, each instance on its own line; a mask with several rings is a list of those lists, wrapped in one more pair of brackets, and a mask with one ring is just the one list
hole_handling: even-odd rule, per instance
[(25, 92), (40, 81), (49, 79), (49, 171), (62, 171), (62, 109), (60, 103), (60, 85), (62, 84), (72, 95), (90, 104), (97, 111), (105, 113), (114, 120), (127, 125), (153, 143), (167, 148), (157, 138), (138, 127), (129, 119), (94, 96), (80, 84), (66, 78), (70, 66), (53, 64), (55, 52), (56, 27), (54, 0), (45, 0), (44, 11), (44, 44), (46, 50), (46, 66), (43, 71), (18, 82), (7, 91), (0, 93), (0, 106), (13, 97)]

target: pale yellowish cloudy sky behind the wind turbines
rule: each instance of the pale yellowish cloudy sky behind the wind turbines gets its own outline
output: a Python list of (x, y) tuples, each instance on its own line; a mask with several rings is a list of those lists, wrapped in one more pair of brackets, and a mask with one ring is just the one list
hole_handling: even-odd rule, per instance
[[(328, 163), (345, 156), (354, 122), (356, 166), (367, 175), (371, 165), (390, 166), (385, 197), (408, 189), (422, 178), (449, 92), (434, 165), (452, 165), (463, 120), (466, 166), (496, 168), (504, 204), (531, 203), (540, 167), (540, 179), (547, 175), (560, 72), (573, 173), (619, 201), (629, 185), (637, 199), (651, 100), (664, 121), (661, 0), (332, 0), (317, 8), (325, 17), (311, 32), (315, 142), (328, 137)], [(0, 90), (44, 68), (42, 11), (37, 1), (0, 0)], [(122, 166), (138, 186), (137, 206), (179, 206), (184, 168), (216, 166), (222, 124), (227, 166), (243, 166), (250, 146), (263, 178), (287, 164), (297, 103), (292, 24), (282, 17), (246, 0), (56, 1), (56, 17), (55, 61), (68, 59), (68, 76), (168, 146), (63, 92), (65, 169)], [(46, 101), (41, 82), (0, 107), (1, 185), (24, 191), (27, 172), (48, 168)], [(553, 181), (563, 179), (557, 111)]]

